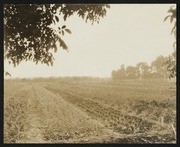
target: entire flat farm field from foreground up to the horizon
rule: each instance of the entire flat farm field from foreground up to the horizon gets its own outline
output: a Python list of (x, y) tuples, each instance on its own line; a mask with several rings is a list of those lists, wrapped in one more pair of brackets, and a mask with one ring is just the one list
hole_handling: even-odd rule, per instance
[(5, 143), (176, 143), (176, 84), (6, 80)]

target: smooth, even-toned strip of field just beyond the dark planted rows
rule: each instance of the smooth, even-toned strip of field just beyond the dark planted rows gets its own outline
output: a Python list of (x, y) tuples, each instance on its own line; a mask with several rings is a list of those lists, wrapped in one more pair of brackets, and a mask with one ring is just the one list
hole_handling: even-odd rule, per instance
[[(165, 86), (149, 87), (147, 84), (128, 85), (128, 84), (64, 84), (53, 83), (48, 87), (58, 89), (63, 92), (78, 95), (79, 97), (93, 99), (111, 106), (119, 106), (126, 103), (127, 100), (165, 100), (176, 95), (175, 89)], [(62, 94), (62, 93), (61, 93)]]

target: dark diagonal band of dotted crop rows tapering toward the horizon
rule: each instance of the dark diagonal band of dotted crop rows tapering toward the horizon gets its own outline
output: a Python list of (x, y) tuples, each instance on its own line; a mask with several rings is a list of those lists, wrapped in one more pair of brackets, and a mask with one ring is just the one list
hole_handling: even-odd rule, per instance
[(47, 89), (54, 93), (59, 92), (59, 94), (63, 96), (64, 99), (80, 107), (92, 117), (100, 119), (107, 127), (119, 133), (143, 133), (150, 131), (151, 128), (156, 125), (156, 122), (148, 121), (136, 116), (131, 116), (127, 113), (121, 112), (118, 109), (102, 105), (91, 99), (82, 98), (75, 94), (57, 89)]

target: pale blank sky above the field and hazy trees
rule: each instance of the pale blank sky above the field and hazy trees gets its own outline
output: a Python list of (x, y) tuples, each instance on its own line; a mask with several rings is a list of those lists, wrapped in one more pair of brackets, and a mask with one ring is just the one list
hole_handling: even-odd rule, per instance
[[(159, 55), (173, 52), (172, 24), (164, 22), (172, 4), (112, 4), (100, 23), (91, 24), (74, 15), (58, 26), (66, 25), (72, 34), (62, 38), (69, 52), (58, 49), (54, 65), (32, 61), (17, 67), (4, 61), (4, 69), (12, 78), (93, 76), (110, 77), (112, 70), (150, 64)], [(53, 26), (53, 27), (58, 27)], [(8, 77), (5, 77), (8, 78)]]

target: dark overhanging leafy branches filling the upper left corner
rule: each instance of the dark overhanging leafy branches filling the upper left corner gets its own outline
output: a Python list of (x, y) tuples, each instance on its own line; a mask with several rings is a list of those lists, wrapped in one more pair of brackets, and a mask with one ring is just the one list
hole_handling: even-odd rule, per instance
[(58, 30), (50, 27), (77, 14), (86, 22), (98, 22), (106, 15), (107, 4), (5, 4), (4, 5), (4, 58), (14, 66), (23, 60), (53, 65), (50, 50), (57, 52), (68, 46), (62, 39), (71, 31), (65, 26)]

